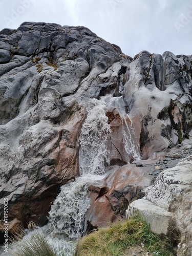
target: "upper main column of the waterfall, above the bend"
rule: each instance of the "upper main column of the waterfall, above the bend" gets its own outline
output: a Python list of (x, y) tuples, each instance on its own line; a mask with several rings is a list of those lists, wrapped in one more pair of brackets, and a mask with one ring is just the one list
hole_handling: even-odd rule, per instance
[(110, 162), (106, 141), (110, 139), (110, 125), (105, 115), (104, 102), (92, 99), (79, 138), (80, 174), (104, 174), (104, 165)]

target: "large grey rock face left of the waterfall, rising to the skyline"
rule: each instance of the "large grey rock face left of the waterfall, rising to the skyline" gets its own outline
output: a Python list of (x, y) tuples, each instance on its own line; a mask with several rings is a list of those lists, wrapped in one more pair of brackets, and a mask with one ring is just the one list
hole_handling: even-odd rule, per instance
[(42, 225), (60, 185), (79, 176), (86, 102), (118, 95), (121, 63), (126, 66), (131, 58), (84, 27), (24, 23), (5, 32), (0, 36), (1, 209), (7, 197), (10, 221)]

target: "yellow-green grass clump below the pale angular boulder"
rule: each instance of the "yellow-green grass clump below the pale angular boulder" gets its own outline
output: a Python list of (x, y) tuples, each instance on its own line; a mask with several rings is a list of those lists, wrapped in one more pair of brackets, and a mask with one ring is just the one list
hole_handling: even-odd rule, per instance
[(88, 236), (77, 244), (76, 256), (120, 256), (127, 248), (144, 244), (148, 252), (157, 252), (159, 256), (171, 256), (173, 247), (170, 239), (151, 232), (150, 226), (142, 218), (133, 218), (112, 224)]

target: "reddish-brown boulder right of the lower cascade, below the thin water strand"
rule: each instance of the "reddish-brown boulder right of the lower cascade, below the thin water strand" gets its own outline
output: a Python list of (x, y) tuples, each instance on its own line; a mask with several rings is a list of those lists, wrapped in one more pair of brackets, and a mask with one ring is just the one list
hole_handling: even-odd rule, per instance
[(91, 207), (87, 221), (91, 227), (108, 226), (122, 219), (129, 203), (143, 197), (143, 189), (153, 183), (147, 167), (114, 166), (100, 186), (89, 187)]

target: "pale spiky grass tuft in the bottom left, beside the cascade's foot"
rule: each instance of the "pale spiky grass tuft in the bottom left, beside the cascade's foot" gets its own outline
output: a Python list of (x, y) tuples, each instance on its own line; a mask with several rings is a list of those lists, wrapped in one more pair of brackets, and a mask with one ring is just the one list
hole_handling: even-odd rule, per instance
[[(10, 255), (12, 256), (56, 256), (60, 248), (51, 245), (44, 233), (36, 229), (32, 234), (25, 236), (23, 239), (17, 236), (17, 242), (11, 246)], [(65, 256), (61, 250), (60, 256)]]

